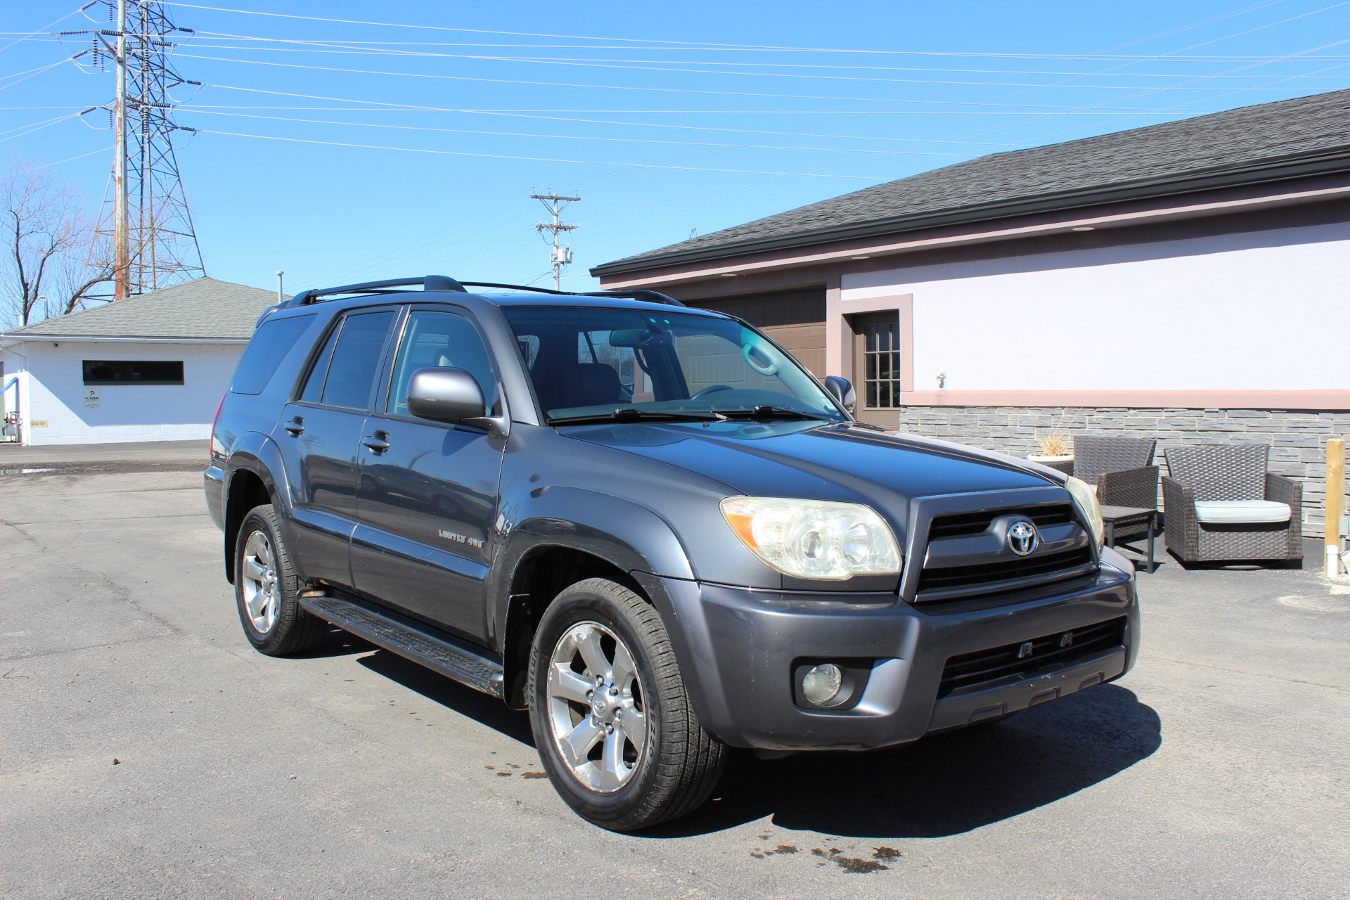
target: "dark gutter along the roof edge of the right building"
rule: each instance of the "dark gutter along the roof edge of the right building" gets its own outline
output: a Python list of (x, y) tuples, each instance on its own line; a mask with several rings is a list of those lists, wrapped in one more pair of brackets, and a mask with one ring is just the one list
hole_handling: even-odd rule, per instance
[(1297, 178), (1341, 174), (1346, 171), (1350, 171), (1350, 144), (1343, 144), (1318, 154), (1280, 157), (1242, 166), (1196, 170), (1183, 175), (1145, 178), (1100, 188), (1034, 194), (1030, 197), (1003, 200), (991, 204), (975, 204), (953, 209), (941, 209), (917, 216), (887, 216), (884, 219), (873, 219), (852, 225), (815, 228), (778, 237), (741, 240), (720, 246), (714, 244), (711, 247), (672, 251), (653, 256), (641, 256), (626, 260), (620, 259), (602, 266), (595, 266), (590, 270), (590, 274), (597, 278), (603, 278), (687, 263), (729, 259), (749, 254), (796, 250), (801, 247), (811, 247), (815, 244), (836, 243), (849, 239), (927, 231), (949, 225), (976, 224), (998, 219), (1064, 212), (1085, 206), (1102, 206), (1135, 200), (1173, 197), (1177, 194), (1292, 181)]

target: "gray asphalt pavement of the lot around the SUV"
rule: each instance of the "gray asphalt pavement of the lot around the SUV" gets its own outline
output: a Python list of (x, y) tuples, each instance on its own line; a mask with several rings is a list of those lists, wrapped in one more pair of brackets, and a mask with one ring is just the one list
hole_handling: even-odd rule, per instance
[(617, 835), (522, 714), (340, 631), (255, 653), (196, 472), (81, 471), (0, 475), (4, 896), (1350, 896), (1350, 588), (1315, 571), (1165, 561), (1120, 681), (738, 754), (702, 812)]

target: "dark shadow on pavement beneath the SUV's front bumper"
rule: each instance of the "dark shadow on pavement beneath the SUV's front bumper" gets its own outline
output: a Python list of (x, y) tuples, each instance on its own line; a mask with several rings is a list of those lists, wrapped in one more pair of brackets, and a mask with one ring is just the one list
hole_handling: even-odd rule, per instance
[(1108, 684), (891, 750), (736, 753), (711, 803), (640, 837), (707, 834), (764, 816), (838, 837), (949, 837), (1089, 788), (1161, 743), (1157, 712)]

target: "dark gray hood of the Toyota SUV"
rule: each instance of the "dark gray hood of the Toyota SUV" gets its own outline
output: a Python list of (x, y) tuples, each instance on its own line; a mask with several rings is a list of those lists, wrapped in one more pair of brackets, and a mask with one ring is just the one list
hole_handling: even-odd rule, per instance
[(698, 472), (755, 497), (871, 503), (896, 525), (903, 525), (915, 497), (1058, 483), (1049, 470), (1010, 456), (852, 424), (636, 422), (560, 432)]

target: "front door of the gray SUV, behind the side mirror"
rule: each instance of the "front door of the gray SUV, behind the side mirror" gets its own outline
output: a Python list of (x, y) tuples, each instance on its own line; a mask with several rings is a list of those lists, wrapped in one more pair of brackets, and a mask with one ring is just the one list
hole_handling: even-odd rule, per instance
[(446, 366), (474, 375), (489, 402), (495, 397), (495, 370), (474, 320), (444, 306), (410, 309), (360, 439), (352, 578), (363, 594), (482, 640), (505, 441), (408, 413), (413, 372)]

